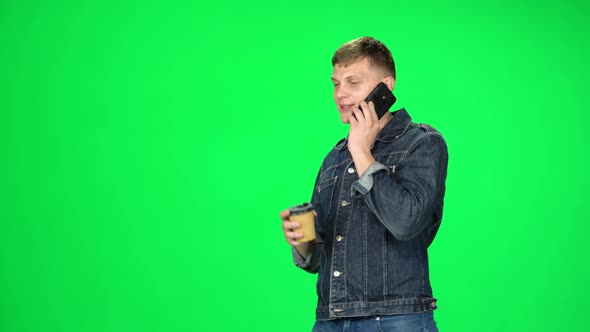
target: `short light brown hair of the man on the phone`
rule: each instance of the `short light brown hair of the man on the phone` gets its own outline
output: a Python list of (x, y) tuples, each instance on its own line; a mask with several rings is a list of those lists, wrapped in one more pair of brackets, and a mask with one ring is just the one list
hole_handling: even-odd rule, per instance
[(382, 42), (372, 37), (353, 39), (340, 46), (332, 57), (332, 66), (336, 64), (348, 66), (363, 58), (367, 58), (369, 64), (395, 79), (395, 62), (391, 52)]

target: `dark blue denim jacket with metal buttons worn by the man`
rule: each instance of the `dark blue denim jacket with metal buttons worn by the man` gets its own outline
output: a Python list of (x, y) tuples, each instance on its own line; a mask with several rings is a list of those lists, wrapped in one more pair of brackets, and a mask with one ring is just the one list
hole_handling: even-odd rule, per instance
[(436, 309), (427, 248), (441, 223), (447, 146), (405, 109), (378, 134), (359, 178), (341, 140), (324, 159), (312, 204), (317, 239), (295, 264), (319, 273), (318, 320)]

